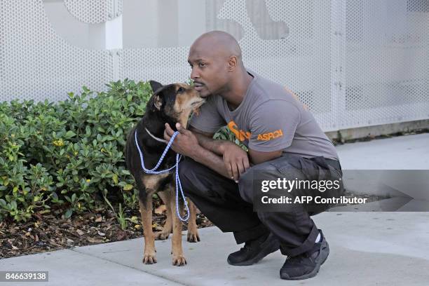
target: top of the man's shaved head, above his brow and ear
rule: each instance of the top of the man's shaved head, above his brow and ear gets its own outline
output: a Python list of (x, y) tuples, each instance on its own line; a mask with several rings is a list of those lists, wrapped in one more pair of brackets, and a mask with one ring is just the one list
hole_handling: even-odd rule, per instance
[(223, 59), (237, 57), (240, 65), (243, 64), (241, 48), (238, 42), (231, 34), (222, 31), (211, 31), (202, 34), (193, 42), (190, 51)]

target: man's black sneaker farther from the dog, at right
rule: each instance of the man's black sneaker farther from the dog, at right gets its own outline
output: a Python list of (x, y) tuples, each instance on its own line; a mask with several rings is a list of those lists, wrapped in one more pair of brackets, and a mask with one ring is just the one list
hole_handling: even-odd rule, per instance
[(301, 280), (314, 277), (320, 266), (329, 255), (329, 245), (319, 229), (322, 241), (315, 243), (311, 250), (294, 257), (287, 257), (280, 269), (280, 278), (286, 280)]

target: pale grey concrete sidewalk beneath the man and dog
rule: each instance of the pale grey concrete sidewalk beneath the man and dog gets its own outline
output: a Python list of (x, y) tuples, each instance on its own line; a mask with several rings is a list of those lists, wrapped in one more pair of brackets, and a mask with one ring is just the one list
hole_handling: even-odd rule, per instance
[[(428, 169), (429, 134), (338, 147), (343, 169)], [(406, 156), (403, 157), (402, 154)], [(402, 155), (402, 156), (401, 156)], [(401, 158), (401, 159), (399, 159)], [(370, 168), (372, 167), (372, 168)], [(313, 217), (331, 253), (315, 278), (280, 280), (280, 252), (253, 266), (229, 266), (231, 233), (200, 229), (188, 265), (171, 265), (171, 240), (156, 241), (158, 264), (142, 264), (142, 238), (0, 260), (0, 271), (49, 271), (49, 282), (2, 285), (428, 285), (429, 212), (324, 212)], [(184, 233), (185, 234), (185, 233)]]

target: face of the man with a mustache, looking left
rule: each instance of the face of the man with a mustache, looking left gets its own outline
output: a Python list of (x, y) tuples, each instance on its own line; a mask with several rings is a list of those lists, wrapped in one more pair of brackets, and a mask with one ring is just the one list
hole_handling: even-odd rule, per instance
[(228, 83), (228, 61), (222, 54), (215, 53), (207, 45), (194, 44), (189, 50), (191, 79), (200, 97), (222, 93)]

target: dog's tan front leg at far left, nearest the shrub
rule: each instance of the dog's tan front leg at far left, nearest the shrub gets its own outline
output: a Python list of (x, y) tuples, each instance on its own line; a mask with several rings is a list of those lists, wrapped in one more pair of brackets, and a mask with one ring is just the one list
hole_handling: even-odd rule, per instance
[(146, 202), (139, 200), (140, 214), (142, 215), (142, 225), (144, 234), (144, 264), (156, 263), (155, 256), (155, 236), (152, 231), (152, 196), (147, 196)]

